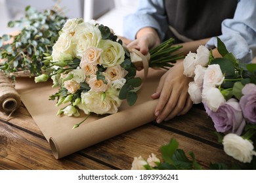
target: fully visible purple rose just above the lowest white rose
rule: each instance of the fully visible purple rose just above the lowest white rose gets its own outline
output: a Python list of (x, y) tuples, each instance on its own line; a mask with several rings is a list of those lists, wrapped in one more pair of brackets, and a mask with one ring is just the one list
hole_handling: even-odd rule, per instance
[(229, 99), (216, 112), (204, 104), (207, 114), (211, 117), (216, 131), (221, 133), (236, 133), (241, 135), (245, 126), (242, 109), (236, 99)]

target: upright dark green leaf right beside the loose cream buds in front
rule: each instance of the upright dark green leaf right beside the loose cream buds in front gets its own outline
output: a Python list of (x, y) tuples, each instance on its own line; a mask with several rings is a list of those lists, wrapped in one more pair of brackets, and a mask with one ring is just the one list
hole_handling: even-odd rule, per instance
[(175, 154), (175, 150), (177, 150), (179, 143), (176, 139), (171, 139), (169, 144), (165, 146), (161, 146), (161, 156), (166, 163), (170, 165), (174, 165), (173, 155)]

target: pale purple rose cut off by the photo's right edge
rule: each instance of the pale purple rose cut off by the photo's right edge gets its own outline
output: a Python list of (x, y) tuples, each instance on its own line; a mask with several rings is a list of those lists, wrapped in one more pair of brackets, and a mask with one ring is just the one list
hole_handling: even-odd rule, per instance
[(245, 84), (242, 89), (244, 94), (240, 99), (240, 106), (242, 108), (244, 118), (253, 124), (256, 123), (256, 85), (249, 83)]

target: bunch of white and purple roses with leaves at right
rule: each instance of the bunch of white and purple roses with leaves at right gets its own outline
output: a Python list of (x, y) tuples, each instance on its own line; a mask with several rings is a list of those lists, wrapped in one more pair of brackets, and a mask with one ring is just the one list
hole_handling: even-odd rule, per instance
[(219, 38), (217, 42), (223, 58), (213, 58), (210, 50), (200, 46), (184, 59), (184, 75), (194, 77), (188, 93), (195, 104), (203, 103), (224, 152), (250, 163), (256, 156), (256, 64), (240, 63)]

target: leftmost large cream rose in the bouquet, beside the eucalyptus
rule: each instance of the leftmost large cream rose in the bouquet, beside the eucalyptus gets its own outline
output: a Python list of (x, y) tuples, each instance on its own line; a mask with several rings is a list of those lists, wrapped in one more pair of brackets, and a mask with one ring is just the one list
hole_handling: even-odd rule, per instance
[(53, 45), (53, 61), (64, 61), (65, 59), (72, 58), (74, 56), (73, 49), (72, 37), (66, 33), (62, 33), (58, 37), (58, 41)]

